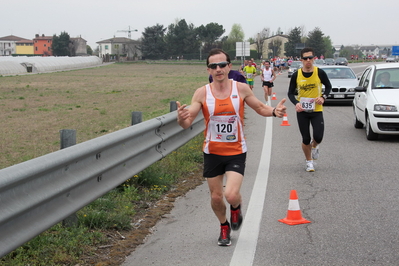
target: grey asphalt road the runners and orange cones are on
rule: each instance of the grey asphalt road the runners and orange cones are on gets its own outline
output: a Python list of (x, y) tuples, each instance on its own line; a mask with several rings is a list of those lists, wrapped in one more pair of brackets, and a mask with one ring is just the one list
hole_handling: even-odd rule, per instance
[[(357, 74), (365, 68), (350, 66)], [(273, 106), (288, 83), (279, 75)], [(254, 92), (263, 100), (259, 77)], [(295, 110), (286, 105), (290, 126), (246, 109), (245, 218), (230, 247), (217, 245), (219, 223), (204, 183), (176, 201), (123, 265), (399, 265), (399, 137), (368, 141), (353, 126), (351, 105), (325, 106), (320, 158), (308, 173)], [(291, 190), (311, 223), (278, 222)]]

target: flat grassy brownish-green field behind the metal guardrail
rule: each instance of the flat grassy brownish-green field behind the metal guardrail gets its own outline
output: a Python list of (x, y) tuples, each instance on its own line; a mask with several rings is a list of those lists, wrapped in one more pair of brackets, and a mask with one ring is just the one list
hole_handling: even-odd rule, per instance
[(205, 64), (112, 64), (49, 74), (0, 77), (0, 169), (60, 149), (61, 129), (81, 143), (189, 103), (207, 82)]

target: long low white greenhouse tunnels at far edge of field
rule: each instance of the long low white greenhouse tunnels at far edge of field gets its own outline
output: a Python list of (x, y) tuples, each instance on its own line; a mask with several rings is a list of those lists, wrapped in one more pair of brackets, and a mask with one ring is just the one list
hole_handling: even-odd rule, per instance
[(97, 56), (76, 57), (36, 57), (2, 56), (0, 57), (0, 75), (18, 75), (25, 73), (44, 73), (95, 67), (102, 64)]

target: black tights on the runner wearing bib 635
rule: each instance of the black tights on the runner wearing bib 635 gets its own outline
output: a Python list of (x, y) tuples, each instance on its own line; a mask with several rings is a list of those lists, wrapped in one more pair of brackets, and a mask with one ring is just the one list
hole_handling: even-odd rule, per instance
[(298, 112), (297, 113), (299, 131), (302, 135), (302, 143), (309, 145), (312, 137), (310, 136), (310, 125), (313, 127), (313, 139), (321, 143), (324, 135), (324, 118), (322, 112)]

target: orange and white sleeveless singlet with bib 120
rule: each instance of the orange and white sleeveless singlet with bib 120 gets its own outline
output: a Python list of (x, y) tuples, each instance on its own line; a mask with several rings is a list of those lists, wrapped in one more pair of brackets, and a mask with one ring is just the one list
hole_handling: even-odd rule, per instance
[(243, 131), (244, 101), (238, 94), (237, 82), (231, 82), (230, 96), (225, 99), (215, 98), (210, 84), (205, 86), (204, 153), (229, 156), (247, 152)]

